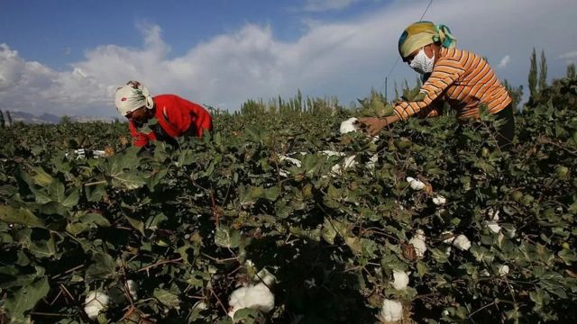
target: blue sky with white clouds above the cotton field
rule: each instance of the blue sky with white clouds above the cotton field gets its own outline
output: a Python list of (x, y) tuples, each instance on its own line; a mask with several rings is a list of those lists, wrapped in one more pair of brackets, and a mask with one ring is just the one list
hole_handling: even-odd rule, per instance
[[(0, 110), (116, 116), (114, 91), (138, 80), (229, 111), (248, 99), (393, 93), (417, 74), (400, 33), (444, 23), (457, 46), (525, 85), (533, 48), (549, 79), (577, 62), (575, 0), (0, 0)], [(396, 64), (397, 63), (397, 64)], [(527, 91), (526, 91), (527, 92)]]

